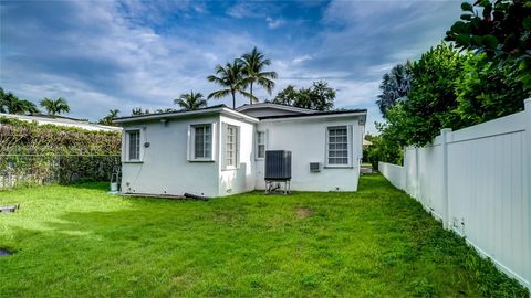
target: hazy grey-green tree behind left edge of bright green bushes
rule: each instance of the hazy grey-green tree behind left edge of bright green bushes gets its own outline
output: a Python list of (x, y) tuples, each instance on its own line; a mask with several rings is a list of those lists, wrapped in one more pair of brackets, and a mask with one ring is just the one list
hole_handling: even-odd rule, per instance
[(387, 109), (407, 95), (412, 88), (412, 64), (409, 61), (406, 64), (394, 66), (391, 72), (384, 74), (379, 85), (382, 93), (376, 100), (376, 105), (384, 118)]

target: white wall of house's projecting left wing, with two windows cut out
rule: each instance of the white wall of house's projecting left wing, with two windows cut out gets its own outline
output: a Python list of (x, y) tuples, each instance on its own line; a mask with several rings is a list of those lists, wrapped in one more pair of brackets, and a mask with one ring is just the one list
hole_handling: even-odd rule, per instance
[[(122, 150), (122, 191), (149, 194), (176, 194), (185, 192), (217, 196), (219, 159), (214, 161), (188, 160), (188, 129), (192, 124), (214, 124), (212, 148), (217, 147), (219, 116), (194, 119), (168, 119), (167, 124), (150, 121), (127, 124), (129, 129), (140, 129), (140, 162), (127, 162), (125, 148)], [(144, 147), (149, 142), (149, 147)]]

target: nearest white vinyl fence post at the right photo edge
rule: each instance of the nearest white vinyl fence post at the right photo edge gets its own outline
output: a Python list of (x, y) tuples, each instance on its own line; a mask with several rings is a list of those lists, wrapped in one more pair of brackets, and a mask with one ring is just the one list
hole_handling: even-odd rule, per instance
[[(523, 105), (524, 105), (524, 116), (525, 116), (525, 134), (524, 134), (524, 138), (525, 138), (525, 146), (524, 146), (524, 158), (523, 160), (525, 161), (525, 172), (524, 172), (524, 180), (523, 181), (528, 181), (524, 184), (524, 189), (523, 189), (523, 194), (524, 196), (523, 198), (528, 198), (527, 201), (524, 201), (524, 206), (527, 204), (527, 210), (528, 210), (528, 214), (527, 216), (523, 216), (524, 221), (524, 224), (528, 225), (528, 231), (531, 231), (531, 183), (529, 182), (531, 180), (531, 98), (528, 98), (523, 102)], [(528, 248), (531, 248), (531, 236), (529, 235), (528, 233)], [(524, 278), (527, 278), (529, 281), (531, 281), (531, 249), (528, 249), (528, 255), (525, 256), (527, 258), (527, 276), (524, 276)], [(531, 290), (531, 286), (528, 286)]]

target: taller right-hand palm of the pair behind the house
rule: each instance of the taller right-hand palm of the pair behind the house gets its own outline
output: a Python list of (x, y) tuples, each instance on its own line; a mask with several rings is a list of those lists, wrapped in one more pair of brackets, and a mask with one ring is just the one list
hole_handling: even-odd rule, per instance
[[(274, 88), (273, 79), (277, 78), (275, 72), (263, 72), (266, 66), (271, 64), (269, 58), (264, 58), (263, 54), (258, 52), (257, 47), (252, 49), (250, 53), (243, 54), (240, 58), (243, 64), (243, 74), (246, 81), (249, 83), (249, 91), (252, 96), (252, 86), (258, 84), (266, 88), (266, 91), (271, 94), (271, 91)], [(250, 98), (250, 104), (252, 104), (252, 97)]]

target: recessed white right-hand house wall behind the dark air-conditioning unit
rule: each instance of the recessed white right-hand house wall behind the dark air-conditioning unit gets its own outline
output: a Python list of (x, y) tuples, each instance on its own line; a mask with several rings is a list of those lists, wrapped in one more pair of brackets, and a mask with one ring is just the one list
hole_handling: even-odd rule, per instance
[[(330, 126), (350, 126), (350, 168), (327, 168), (326, 129)], [(291, 189), (300, 191), (356, 191), (360, 177), (360, 158), (364, 126), (357, 117), (352, 118), (293, 118), (262, 120), (258, 131), (266, 131), (266, 150), (292, 152)], [(310, 162), (320, 162), (320, 172), (310, 172)], [(257, 189), (264, 189), (264, 160), (257, 159)]]

